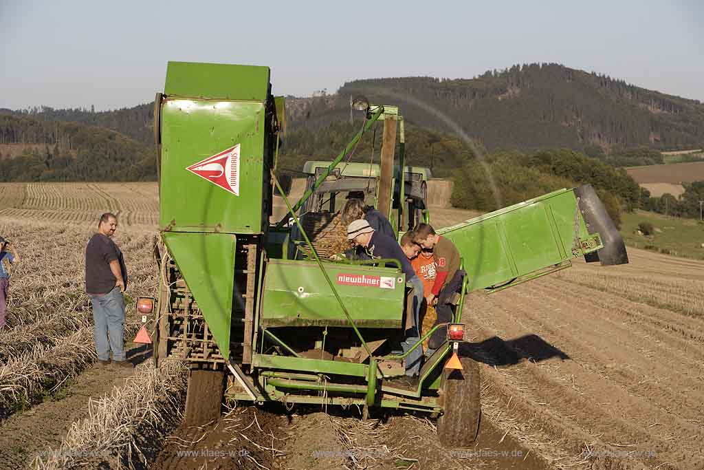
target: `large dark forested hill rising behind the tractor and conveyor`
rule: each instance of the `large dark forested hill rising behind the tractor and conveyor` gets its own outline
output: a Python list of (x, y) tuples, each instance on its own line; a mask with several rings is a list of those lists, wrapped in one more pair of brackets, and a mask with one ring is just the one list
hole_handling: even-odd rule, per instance
[(320, 128), (349, 118), (350, 97), (398, 104), (406, 119), (455, 132), (455, 123), (490, 151), (704, 143), (704, 105), (559, 64), (513, 66), (470, 80), (379, 78), (347, 82), (337, 94), (287, 102), (289, 123)]

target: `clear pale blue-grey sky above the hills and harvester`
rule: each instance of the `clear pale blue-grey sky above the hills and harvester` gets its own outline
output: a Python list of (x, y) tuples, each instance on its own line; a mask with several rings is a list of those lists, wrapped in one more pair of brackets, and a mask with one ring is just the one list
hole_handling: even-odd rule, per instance
[(166, 62), (272, 68), (276, 94), (558, 62), (704, 101), (704, 2), (0, 0), (0, 107), (153, 99)]

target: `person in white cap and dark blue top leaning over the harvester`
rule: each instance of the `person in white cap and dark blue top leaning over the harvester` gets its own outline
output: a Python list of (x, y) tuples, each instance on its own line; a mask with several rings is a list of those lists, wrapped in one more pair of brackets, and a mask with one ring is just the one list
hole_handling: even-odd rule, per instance
[[(403, 352), (410, 350), (415, 343), (420, 340), (418, 331), (418, 311), (420, 302), (423, 299), (423, 283), (415, 275), (413, 267), (410, 266), (408, 257), (403, 253), (398, 242), (389, 235), (384, 235), (374, 230), (369, 222), (364, 219), (353, 221), (347, 226), (347, 240), (354, 245), (364, 247), (367, 254), (372, 258), (396, 259), (401, 263), (401, 269), (406, 273), (406, 282), (413, 286), (413, 316), (411, 327), (406, 330), (406, 340), (401, 343)], [(420, 361), (423, 355), (422, 346), (418, 346), (406, 356), (406, 376), (417, 376), (420, 371)]]

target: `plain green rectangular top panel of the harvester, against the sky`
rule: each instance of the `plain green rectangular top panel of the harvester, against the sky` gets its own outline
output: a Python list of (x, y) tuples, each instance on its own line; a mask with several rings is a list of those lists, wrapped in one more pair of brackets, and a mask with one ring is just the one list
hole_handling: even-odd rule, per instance
[(268, 90), (268, 67), (169, 62), (166, 68), (167, 95), (263, 102)]

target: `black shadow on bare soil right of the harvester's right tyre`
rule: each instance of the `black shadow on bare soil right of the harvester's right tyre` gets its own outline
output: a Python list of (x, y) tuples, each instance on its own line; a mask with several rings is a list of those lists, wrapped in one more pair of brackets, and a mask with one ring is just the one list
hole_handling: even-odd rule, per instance
[(521, 361), (545, 361), (559, 357), (563, 361), (570, 356), (546, 342), (538, 335), (524, 335), (515, 340), (503, 340), (498, 336), (482, 342), (460, 345), (465, 356), (490, 366), (513, 366)]

